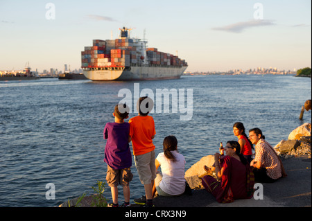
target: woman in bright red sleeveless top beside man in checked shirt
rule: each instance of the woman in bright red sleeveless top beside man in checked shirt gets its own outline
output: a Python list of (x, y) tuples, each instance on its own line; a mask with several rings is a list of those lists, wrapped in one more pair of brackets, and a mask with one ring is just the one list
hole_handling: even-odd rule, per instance
[(245, 134), (245, 127), (243, 123), (236, 122), (233, 125), (233, 133), (239, 139), (239, 144), (241, 145), (241, 154), (243, 157), (247, 159), (250, 163), (252, 161), (252, 143), (247, 138), (248, 136)]

